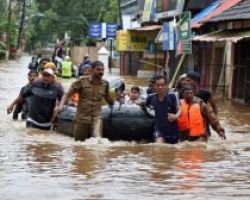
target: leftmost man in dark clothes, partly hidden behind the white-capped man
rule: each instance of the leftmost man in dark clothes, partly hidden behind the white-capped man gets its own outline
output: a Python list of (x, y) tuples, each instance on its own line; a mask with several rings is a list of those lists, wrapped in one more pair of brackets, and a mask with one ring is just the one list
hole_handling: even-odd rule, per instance
[[(35, 81), (37, 79), (37, 77), (38, 77), (38, 72), (37, 71), (35, 71), (35, 70), (30, 70), (29, 71), (29, 73), (28, 73), (28, 84), (21, 88), (19, 96), (21, 96), (23, 93), (25, 93), (25, 91), (31, 86), (31, 84), (33, 83), (33, 81)], [(14, 106), (15, 106), (12, 118), (14, 120), (17, 120), (18, 119), (18, 114), (20, 112), (22, 112), (21, 118), (26, 119), (27, 114), (28, 114), (28, 105), (27, 104), (29, 103), (29, 99), (27, 98), (24, 101), (21, 101), (19, 103), (15, 103), (16, 99), (8, 106), (8, 110), (12, 111), (14, 109)]]

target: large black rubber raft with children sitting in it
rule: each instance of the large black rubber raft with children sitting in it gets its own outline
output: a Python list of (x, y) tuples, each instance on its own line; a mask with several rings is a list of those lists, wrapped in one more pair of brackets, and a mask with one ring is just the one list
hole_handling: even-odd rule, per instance
[[(73, 120), (76, 108), (65, 107), (58, 117), (58, 132), (73, 136)], [(110, 140), (141, 141), (152, 140), (153, 117), (139, 107), (131, 105), (114, 106), (113, 112), (108, 106), (102, 107), (103, 136)]]

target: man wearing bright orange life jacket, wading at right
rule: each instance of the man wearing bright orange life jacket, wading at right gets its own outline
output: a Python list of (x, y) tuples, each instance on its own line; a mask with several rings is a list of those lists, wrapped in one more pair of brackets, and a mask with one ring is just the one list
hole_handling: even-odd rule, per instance
[(206, 123), (218, 133), (219, 137), (226, 139), (225, 130), (220, 125), (212, 109), (201, 99), (194, 97), (191, 85), (182, 89), (184, 99), (181, 100), (181, 116), (178, 118), (178, 128), (181, 132), (181, 141), (207, 141)]

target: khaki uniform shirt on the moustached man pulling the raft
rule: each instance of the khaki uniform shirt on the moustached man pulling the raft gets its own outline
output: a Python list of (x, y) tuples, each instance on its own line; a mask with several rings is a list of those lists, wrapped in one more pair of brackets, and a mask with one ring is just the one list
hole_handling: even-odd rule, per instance
[(108, 95), (109, 84), (101, 80), (94, 84), (92, 76), (83, 76), (71, 85), (70, 91), (79, 93), (79, 103), (76, 111), (76, 121), (91, 123), (93, 118), (102, 118), (102, 99)]

